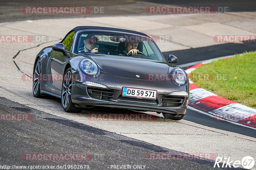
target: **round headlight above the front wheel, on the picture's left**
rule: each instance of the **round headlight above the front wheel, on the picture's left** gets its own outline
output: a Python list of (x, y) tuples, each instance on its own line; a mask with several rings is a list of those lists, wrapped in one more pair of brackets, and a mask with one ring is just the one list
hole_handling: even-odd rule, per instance
[(96, 75), (99, 71), (97, 64), (90, 59), (81, 60), (79, 67), (85, 74), (88, 75)]

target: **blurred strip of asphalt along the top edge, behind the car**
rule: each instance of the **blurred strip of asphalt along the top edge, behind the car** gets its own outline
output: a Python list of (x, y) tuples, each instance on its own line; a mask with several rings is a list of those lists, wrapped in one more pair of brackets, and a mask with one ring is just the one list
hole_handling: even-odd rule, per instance
[(164, 5), (173, 5), (173, 6), (213, 6), (213, 7), (228, 7), (229, 11), (256, 11), (255, 6), (256, 2), (254, 0), (196, 0), (196, 1), (187, 1), (187, 0), (104, 0), (104, 1), (95, 1), (95, 0), (72, 0), (72, 1), (63, 1), (63, 0), (38, 0), (38, 1), (29, 1), (29, 0), (1, 0), (0, 1), (0, 21), (18, 21), (25, 19), (45, 19), (45, 18), (77, 18), (84, 17), (84, 14), (70, 14), (70, 15), (56, 15), (56, 14), (47, 14), (47, 15), (28, 15), (21, 13), (21, 8), (26, 6), (90, 6), (93, 7), (104, 7), (104, 14), (102, 13), (92, 13), (86, 15), (86, 17), (98, 17), (98, 16), (115, 16), (115, 15), (147, 15), (145, 8), (148, 6), (155, 6), (150, 3), (159, 3)]

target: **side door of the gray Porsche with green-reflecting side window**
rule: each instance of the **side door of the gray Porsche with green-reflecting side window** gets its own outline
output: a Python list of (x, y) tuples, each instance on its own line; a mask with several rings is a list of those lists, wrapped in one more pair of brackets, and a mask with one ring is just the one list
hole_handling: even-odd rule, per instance
[(68, 60), (69, 53), (71, 51), (71, 47), (73, 44), (75, 36), (75, 31), (69, 32), (66, 37), (61, 41), (65, 45), (65, 49), (67, 51), (66, 54), (62, 52), (53, 51), (51, 54), (51, 72), (52, 72), (52, 87), (58, 90), (61, 90), (62, 86), (62, 77), (64, 64)]

